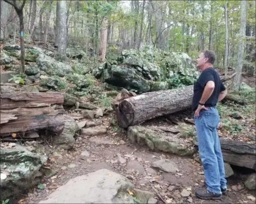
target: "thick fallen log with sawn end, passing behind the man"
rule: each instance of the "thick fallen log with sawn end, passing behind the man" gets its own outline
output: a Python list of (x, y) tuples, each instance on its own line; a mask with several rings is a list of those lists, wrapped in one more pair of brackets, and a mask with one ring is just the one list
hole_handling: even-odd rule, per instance
[[(228, 76), (229, 79), (231, 76)], [(222, 81), (226, 80), (227, 78), (222, 79)], [(124, 99), (119, 103), (116, 111), (118, 124), (126, 128), (152, 118), (191, 109), (192, 98), (193, 85), (173, 90), (143, 93)]]

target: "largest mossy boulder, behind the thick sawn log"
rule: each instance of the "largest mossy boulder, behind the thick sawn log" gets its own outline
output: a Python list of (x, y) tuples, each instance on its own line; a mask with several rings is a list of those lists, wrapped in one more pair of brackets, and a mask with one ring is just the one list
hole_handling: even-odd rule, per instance
[(102, 82), (139, 93), (172, 88), (173, 83), (177, 84), (176, 80), (190, 85), (198, 76), (186, 53), (167, 53), (158, 49), (123, 50), (116, 61), (100, 64), (93, 74)]

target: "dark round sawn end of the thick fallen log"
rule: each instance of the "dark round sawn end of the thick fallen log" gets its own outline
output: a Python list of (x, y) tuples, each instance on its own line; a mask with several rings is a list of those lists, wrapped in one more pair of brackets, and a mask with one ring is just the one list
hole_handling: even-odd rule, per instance
[(129, 127), (134, 118), (134, 111), (132, 108), (132, 104), (128, 101), (124, 100), (119, 104), (119, 108), (117, 111), (118, 114), (118, 123), (121, 127)]

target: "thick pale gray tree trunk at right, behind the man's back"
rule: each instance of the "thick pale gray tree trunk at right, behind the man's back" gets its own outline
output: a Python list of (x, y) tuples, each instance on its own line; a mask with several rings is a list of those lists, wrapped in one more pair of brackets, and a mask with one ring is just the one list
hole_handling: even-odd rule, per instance
[(237, 65), (236, 65), (236, 75), (233, 81), (233, 91), (239, 91), (241, 84), (242, 75), (242, 65), (243, 65), (243, 52), (245, 51), (245, 42), (243, 38), (245, 37), (246, 31), (246, 1), (241, 1), (241, 18), (240, 18), (240, 31), (239, 31), (239, 43), (238, 43), (238, 53), (237, 53)]

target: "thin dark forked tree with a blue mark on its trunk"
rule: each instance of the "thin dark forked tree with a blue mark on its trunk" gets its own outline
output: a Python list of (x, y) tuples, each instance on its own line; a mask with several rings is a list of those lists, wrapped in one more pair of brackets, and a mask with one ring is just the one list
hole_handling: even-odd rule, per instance
[(25, 47), (24, 47), (24, 21), (23, 21), (23, 8), (25, 6), (26, 0), (22, 1), (22, 4), (17, 5), (16, 0), (4, 0), (6, 3), (12, 5), (19, 16), (20, 20), (20, 45), (21, 45), (21, 71), (25, 72)]

